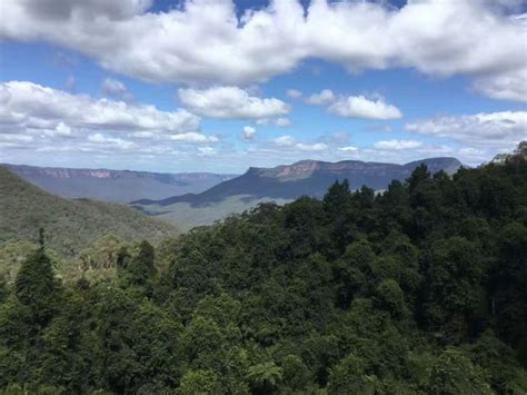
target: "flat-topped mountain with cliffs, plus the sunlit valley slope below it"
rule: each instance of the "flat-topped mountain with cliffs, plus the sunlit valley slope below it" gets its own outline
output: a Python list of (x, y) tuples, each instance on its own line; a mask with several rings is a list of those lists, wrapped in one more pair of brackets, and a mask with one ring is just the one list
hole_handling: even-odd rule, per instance
[(320, 198), (335, 180), (348, 179), (352, 189), (366, 185), (385, 189), (392, 179), (405, 180), (425, 164), (430, 172), (457, 171), (455, 158), (430, 158), (406, 165), (345, 160), (326, 162), (302, 160), (274, 168), (251, 167), (242, 176), (229, 179), (201, 194), (186, 194), (166, 199), (140, 199), (131, 205), (147, 214), (176, 220), (182, 228), (207, 225), (232, 213), (241, 213), (261, 201), (287, 203), (302, 195)]

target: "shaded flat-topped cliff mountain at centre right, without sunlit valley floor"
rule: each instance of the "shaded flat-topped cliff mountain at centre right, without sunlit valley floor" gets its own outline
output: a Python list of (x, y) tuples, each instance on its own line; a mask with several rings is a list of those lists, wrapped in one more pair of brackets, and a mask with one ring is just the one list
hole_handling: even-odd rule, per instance
[(406, 165), (359, 160), (335, 164), (302, 160), (274, 168), (251, 167), (246, 174), (220, 182), (201, 194), (187, 194), (161, 200), (141, 199), (136, 204), (169, 206), (176, 203), (190, 203), (202, 206), (241, 195), (247, 199), (296, 199), (302, 195), (319, 198), (332, 182), (344, 179), (348, 179), (352, 189), (367, 186), (379, 190), (385, 189), (392, 179), (405, 180), (420, 164), (427, 165), (432, 174), (439, 170), (453, 174), (461, 166), (455, 158), (431, 158)]

